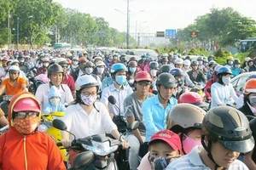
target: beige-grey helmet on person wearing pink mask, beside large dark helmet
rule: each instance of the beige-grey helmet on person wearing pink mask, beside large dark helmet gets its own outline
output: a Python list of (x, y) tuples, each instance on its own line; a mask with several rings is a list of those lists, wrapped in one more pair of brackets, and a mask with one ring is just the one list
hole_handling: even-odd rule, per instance
[[(172, 107), (168, 112), (166, 128), (172, 129), (174, 126), (183, 128), (195, 127), (201, 128), (206, 111), (200, 107), (191, 104), (179, 104)], [(177, 132), (175, 132), (177, 133)]]

